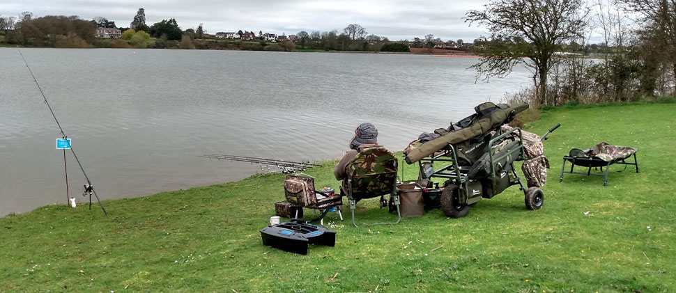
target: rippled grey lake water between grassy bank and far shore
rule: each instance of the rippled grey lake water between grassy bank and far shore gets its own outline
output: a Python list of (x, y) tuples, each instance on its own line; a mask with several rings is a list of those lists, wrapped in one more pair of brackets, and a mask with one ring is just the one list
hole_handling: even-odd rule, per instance
[[(401, 54), (22, 49), (102, 200), (240, 180), (257, 165), (197, 156), (338, 159), (360, 122), (403, 150), (422, 132), (530, 85), (475, 83), (477, 58)], [(52, 114), (19, 51), (0, 48), (0, 216), (66, 203)], [(84, 203), (70, 152), (71, 195)], [(337, 185), (337, 184), (336, 184)], [(280, 187), (281, 190), (282, 187)], [(97, 207), (98, 208), (98, 207)]]

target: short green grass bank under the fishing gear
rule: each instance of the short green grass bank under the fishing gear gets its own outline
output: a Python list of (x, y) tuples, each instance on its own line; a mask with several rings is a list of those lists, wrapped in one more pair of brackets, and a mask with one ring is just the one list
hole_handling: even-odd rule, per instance
[[(675, 111), (676, 104), (545, 111), (526, 127), (541, 134), (562, 124), (546, 142), (542, 209), (525, 209), (523, 193), (511, 187), (463, 219), (433, 210), (369, 227), (394, 216), (364, 200), (360, 228), (347, 212), (344, 222), (331, 213), (336, 246), (311, 246), (307, 255), (261, 244), (259, 229), (284, 198), (279, 174), (106, 200), (108, 217), (84, 205), (7, 216), (0, 219), (0, 291), (674, 291)], [(558, 182), (562, 155), (601, 141), (638, 147), (640, 173), (613, 166), (607, 187), (602, 177), (583, 175)], [(337, 187), (332, 167), (307, 173), (319, 186)], [(414, 177), (407, 167), (404, 176)]]

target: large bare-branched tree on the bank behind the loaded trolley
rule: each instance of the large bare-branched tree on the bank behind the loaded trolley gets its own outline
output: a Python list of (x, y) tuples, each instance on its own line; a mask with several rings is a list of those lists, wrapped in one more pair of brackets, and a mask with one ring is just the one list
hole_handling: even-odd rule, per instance
[(581, 38), (588, 10), (583, 0), (493, 0), (483, 11), (470, 10), (465, 21), (486, 26), (491, 40), (484, 43), (479, 76), (505, 76), (514, 65), (533, 71), (540, 104), (547, 104), (549, 70), (565, 42)]

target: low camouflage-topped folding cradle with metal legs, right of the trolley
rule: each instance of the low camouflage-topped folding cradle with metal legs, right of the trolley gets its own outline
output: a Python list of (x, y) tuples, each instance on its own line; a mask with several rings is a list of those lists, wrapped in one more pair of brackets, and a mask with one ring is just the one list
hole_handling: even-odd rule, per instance
[[(634, 168), (636, 168), (636, 173), (638, 173), (638, 161), (636, 161), (637, 151), (638, 148), (608, 145), (608, 143), (599, 143), (589, 150), (574, 148), (570, 150), (567, 156), (563, 156), (563, 166), (561, 167), (561, 177), (559, 178), (559, 182), (563, 182), (564, 173), (582, 174), (587, 176), (594, 175), (604, 176), (604, 186), (606, 186), (606, 184), (608, 184), (608, 169), (610, 165), (625, 165), (625, 170), (627, 169), (627, 165), (633, 165)], [(631, 156), (633, 156), (633, 163), (631, 163), (631, 161), (625, 161)], [(566, 161), (571, 163), (570, 171), (566, 170)], [(575, 172), (573, 171), (575, 166), (587, 167), (587, 172)], [(604, 167), (606, 168), (606, 171), (604, 171)], [(601, 173), (592, 173), (592, 168), (594, 168), (594, 170), (601, 168)]]

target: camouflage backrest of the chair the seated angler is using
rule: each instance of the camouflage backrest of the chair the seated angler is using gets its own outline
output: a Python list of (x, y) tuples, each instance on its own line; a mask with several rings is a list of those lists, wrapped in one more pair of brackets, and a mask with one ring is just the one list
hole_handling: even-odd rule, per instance
[(362, 148), (350, 162), (348, 175), (355, 199), (391, 194), (397, 182), (397, 157), (383, 146)]

